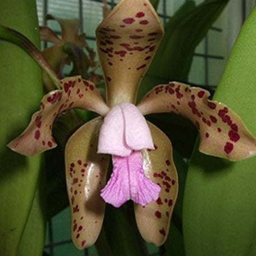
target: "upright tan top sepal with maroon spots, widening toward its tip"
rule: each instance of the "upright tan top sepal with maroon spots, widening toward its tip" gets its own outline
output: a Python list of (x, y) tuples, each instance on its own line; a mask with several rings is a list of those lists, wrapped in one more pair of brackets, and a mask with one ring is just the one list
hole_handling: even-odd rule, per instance
[(146, 0), (121, 0), (98, 26), (97, 48), (108, 106), (135, 103), (138, 85), (162, 35), (162, 23)]

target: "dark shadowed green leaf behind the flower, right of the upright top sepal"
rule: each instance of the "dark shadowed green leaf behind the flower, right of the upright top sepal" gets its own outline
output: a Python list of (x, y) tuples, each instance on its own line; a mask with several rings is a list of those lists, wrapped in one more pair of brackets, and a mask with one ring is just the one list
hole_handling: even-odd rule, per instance
[(181, 6), (165, 25), (161, 45), (141, 83), (139, 99), (157, 84), (188, 81), (195, 47), (227, 3), (228, 0), (207, 0), (195, 7), (194, 1), (186, 1)]

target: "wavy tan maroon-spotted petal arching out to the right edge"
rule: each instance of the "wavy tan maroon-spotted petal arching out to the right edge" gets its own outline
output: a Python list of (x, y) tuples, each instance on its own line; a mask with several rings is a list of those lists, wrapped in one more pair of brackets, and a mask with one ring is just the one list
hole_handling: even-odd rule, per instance
[(174, 112), (198, 128), (199, 150), (236, 161), (256, 154), (256, 140), (241, 118), (225, 104), (208, 99), (209, 92), (186, 84), (158, 85), (138, 104), (141, 113)]

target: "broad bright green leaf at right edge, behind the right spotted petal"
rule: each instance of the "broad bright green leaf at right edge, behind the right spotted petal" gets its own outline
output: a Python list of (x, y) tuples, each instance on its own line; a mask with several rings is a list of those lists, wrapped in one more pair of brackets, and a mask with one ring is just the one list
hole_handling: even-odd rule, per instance
[[(214, 100), (256, 135), (256, 8), (232, 50)], [(256, 158), (231, 163), (194, 152), (184, 197), (186, 255), (255, 255)]]

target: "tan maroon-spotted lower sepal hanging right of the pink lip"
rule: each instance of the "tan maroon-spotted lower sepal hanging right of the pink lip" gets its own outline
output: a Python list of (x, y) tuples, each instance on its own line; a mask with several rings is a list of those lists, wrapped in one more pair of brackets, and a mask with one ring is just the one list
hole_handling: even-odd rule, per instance
[(145, 241), (160, 246), (167, 238), (172, 211), (178, 193), (178, 177), (172, 159), (172, 145), (167, 136), (148, 122), (156, 150), (143, 150), (145, 175), (161, 186), (156, 202), (145, 207), (134, 204), (135, 218)]

